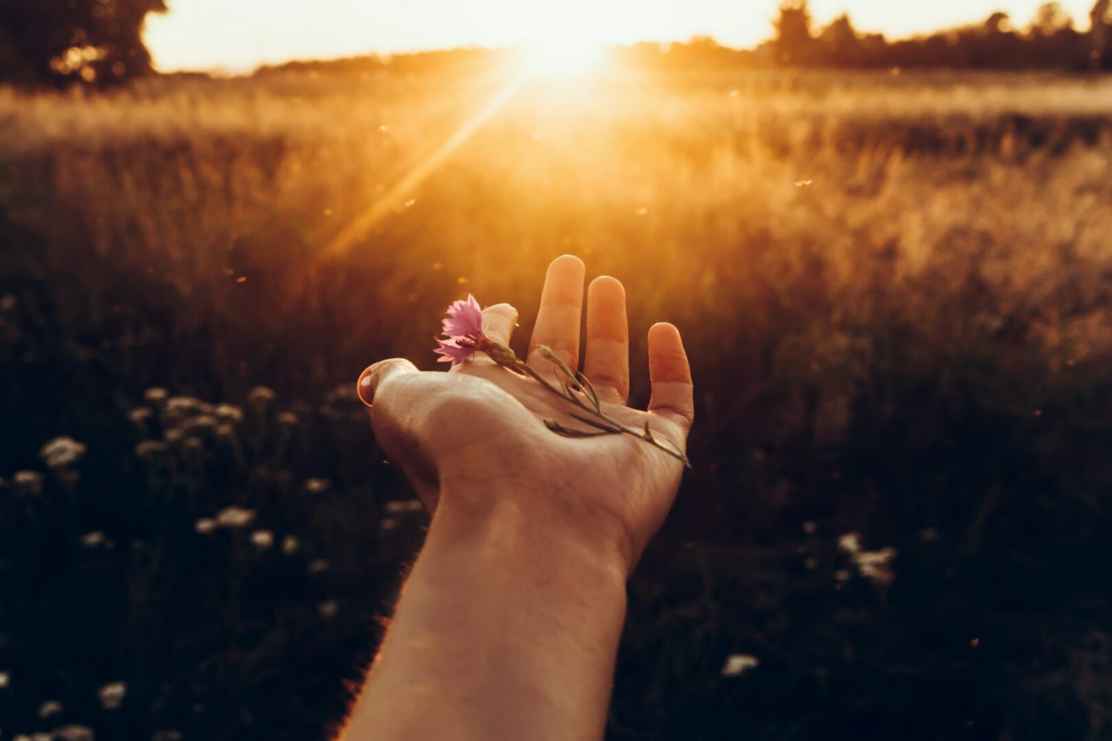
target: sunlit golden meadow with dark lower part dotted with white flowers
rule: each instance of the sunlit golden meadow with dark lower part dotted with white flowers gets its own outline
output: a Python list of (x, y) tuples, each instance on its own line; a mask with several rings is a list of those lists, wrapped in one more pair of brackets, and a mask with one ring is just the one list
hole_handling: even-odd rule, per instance
[(355, 379), (572, 252), (698, 407), (608, 738), (1110, 738), (1112, 80), (510, 82), (0, 90), (2, 732), (324, 738), (427, 523)]

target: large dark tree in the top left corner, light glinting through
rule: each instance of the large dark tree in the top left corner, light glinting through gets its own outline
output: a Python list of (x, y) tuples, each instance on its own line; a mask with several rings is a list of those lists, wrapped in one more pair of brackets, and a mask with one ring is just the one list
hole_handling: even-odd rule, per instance
[(151, 71), (147, 13), (165, 0), (0, 0), (0, 81), (105, 86)]

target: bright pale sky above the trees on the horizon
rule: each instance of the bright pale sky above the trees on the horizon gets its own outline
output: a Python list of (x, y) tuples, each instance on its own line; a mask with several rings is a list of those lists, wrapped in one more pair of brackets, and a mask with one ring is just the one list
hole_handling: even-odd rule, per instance
[[(812, 0), (824, 23), (848, 11), (860, 30), (910, 36), (987, 18), (1023, 26), (1042, 0)], [(465, 46), (515, 46), (560, 34), (592, 41), (752, 47), (772, 33), (777, 0), (170, 0), (149, 16), (159, 69), (246, 71), (266, 62)], [(1062, 0), (1079, 28), (1092, 0)]]

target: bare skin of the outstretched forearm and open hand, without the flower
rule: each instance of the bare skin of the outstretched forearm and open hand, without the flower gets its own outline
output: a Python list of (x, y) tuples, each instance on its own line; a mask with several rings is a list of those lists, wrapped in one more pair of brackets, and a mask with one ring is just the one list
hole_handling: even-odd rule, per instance
[[(548, 268), (528, 362), (552, 348), (579, 362), (585, 268)], [(483, 312), (508, 344), (517, 311)], [(679, 332), (648, 331), (652, 401), (626, 407), (625, 290), (587, 291), (584, 372), (604, 411), (681, 450), (694, 419)], [(340, 738), (600, 739), (625, 619), (625, 580), (675, 499), (676, 459), (628, 435), (570, 439), (568, 402), (476, 357), (450, 372), (406, 360), (359, 379), (375, 433), (433, 513), (379, 655)]]

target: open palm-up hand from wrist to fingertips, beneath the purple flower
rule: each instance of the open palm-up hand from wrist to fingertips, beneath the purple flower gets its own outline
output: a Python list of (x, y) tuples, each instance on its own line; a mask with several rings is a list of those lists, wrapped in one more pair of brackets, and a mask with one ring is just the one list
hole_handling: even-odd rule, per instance
[[(555, 378), (536, 351), (548, 346), (578, 367), (584, 264), (557, 258), (548, 268), (527, 362)], [(517, 311), (497, 304), (483, 312), (488, 337), (509, 343)], [(604, 411), (631, 427), (647, 422), (657, 438), (685, 449), (694, 418), (692, 378), (679, 332), (672, 324), (648, 331), (652, 401), (648, 411), (626, 407), (629, 329), (625, 289), (598, 278), (587, 292), (584, 373)], [(465, 517), (494, 510), (562, 528), (612, 549), (628, 574), (675, 498), (683, 465), (628, 435), (565, 438), (545, 419), (585, 429), (569, 415), (570, 402), (536, 380), (485, 356), (444, 372), (418, 372), (413, 363), (385, 360), (359, 378), (359, 395), (387, 454), (413, 482), (429, 511), (453, 508)]]

